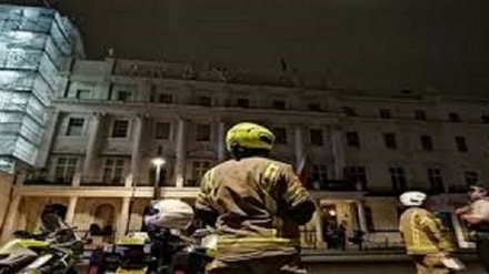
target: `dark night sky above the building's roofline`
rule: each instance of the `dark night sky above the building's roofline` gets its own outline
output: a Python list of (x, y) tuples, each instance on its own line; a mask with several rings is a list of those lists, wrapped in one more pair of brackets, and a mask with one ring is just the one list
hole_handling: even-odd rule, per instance
[[(90, 2), (90, 4), (88, 4)], [(90, 58), (210, 62), (338, 87), (489, 94), (488, 0), (66, 0)]]

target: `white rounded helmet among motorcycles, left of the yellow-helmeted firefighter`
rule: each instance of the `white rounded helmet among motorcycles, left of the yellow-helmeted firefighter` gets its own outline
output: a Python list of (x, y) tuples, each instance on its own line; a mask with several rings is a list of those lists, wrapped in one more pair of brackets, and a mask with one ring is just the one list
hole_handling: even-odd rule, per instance
[(192, 207), (178, 199), (157, 201), (144, 215), (146, 225), (170, 230), (186, 230), (192, 220)]

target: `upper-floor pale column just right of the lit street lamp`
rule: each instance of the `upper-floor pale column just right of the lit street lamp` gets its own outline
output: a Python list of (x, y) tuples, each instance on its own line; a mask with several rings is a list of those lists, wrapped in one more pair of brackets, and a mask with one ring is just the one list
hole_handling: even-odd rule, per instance
[(174, 163), (174, 180), (177, 187), (183, 187), (187, 158), (187, 121), (179, 119), (177, 129), (177, 150)]

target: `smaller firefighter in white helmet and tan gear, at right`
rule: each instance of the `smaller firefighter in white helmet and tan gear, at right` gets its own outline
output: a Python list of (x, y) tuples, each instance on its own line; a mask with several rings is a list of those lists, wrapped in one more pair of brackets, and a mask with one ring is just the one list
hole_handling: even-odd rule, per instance
[(427, 210), (427, 195), (422, 192), (405, 192), (399, 197), (407, 210), (399, 221), (407, 253), (412, 257), (418, 274), (452, 273), (442, 263), (452, 252), (452, 243), (441, 222)]

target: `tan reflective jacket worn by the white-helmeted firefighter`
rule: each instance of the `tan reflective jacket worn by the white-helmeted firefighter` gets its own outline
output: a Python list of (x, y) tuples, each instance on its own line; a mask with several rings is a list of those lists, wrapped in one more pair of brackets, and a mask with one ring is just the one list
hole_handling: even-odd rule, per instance
[(419, 207), (407, 210), (400, 217), (399, 226), (409, 255), (425, 255), (453, 250), (446, 229), (427, 210)]

